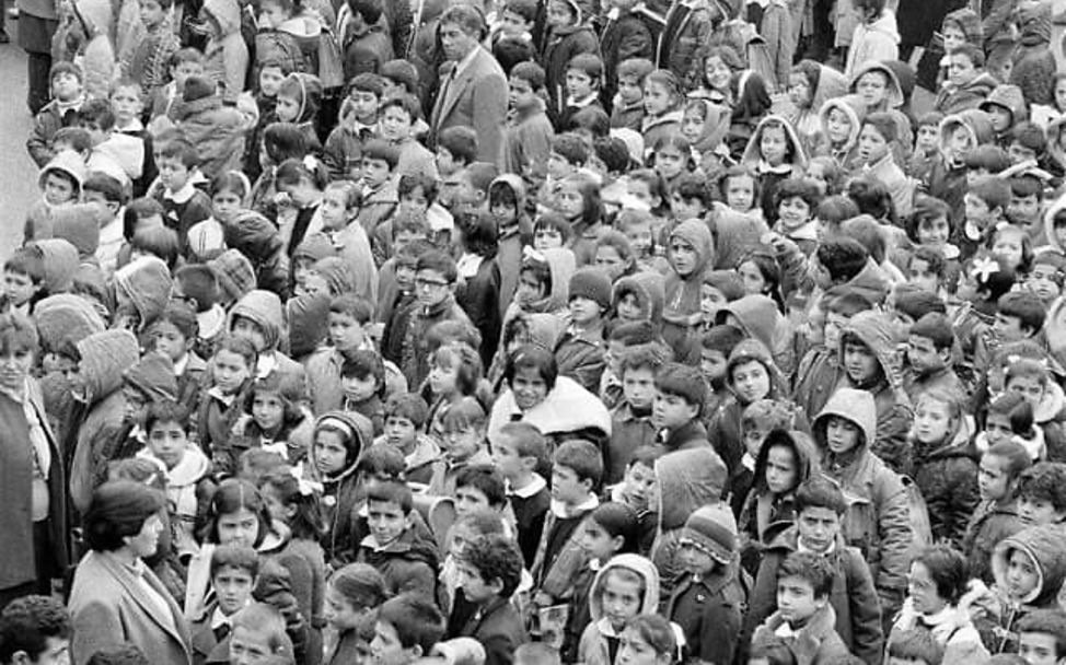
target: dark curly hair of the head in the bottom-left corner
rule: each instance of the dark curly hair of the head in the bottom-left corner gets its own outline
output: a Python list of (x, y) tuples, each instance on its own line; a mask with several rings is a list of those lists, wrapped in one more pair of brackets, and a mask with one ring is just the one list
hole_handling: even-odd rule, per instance
[(70, 612), (51, 596), (15, 598), (0, 614), (0, 663), (11, 663), (25, 652), (36, 663), (48, 649), (48, 638), (67, 639), (73, 632)]

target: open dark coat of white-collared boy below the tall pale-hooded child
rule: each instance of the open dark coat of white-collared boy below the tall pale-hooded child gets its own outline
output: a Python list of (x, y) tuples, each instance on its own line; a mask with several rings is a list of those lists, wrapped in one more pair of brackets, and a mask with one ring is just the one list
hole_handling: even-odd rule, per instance
[[(767, 617), (777, 611), (777, 575), (785, 559), (799, 551), (799, 530), (795, 525), (779, 533), (763, 550), (751, 609), (745, 618), (745, 634), (751, 634)], [(848, 546), (842, 535), (825, 558), (833, 564), (833, 588), (830, 606), (836, 619), (836, 632), (848, 651), (868, 665), (879, 665), (884, 635), (881, 631), (881, 609), (873, 576), (862, 553)]]

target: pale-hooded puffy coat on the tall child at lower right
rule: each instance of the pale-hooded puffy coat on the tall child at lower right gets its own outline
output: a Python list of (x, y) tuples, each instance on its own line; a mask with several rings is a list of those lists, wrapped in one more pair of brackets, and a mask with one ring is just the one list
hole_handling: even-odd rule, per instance
[[(850, 451), (834, 453), (827, 447), (825, 430), (833, 417), (858, 425), (859, 442)], [(814, 419), (812, 429), (822, 469), (841, 483), (848, 503), (841, 528), (844, 540), (862, 552), (882, 608), (892, 608), (906, 588), (912, 528), (902, 478), (870, 448), (877, 440), (873, 397), (865, 390), (838, 389)]]

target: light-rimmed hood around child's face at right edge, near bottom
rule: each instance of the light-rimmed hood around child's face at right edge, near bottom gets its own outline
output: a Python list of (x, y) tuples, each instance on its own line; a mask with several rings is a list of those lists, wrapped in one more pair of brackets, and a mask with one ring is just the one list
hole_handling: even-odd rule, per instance
[(1061, 525), (1032, 526), (1005, 538), (992, 553), (992, 572), (1000, 591), (1009, 590), (1007, 564), (1013, 550), (1026, 552), (1036, 567), (1036, 587), (1020, 600), (1052, 607), (1066, 579), (1066, 533)]

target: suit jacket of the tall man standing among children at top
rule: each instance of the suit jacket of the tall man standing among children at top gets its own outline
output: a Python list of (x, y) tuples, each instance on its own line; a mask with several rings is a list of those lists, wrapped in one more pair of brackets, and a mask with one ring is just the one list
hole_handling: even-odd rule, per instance
[(466, 126), (477, 132), (477, 160), (502, 171), (503, 124), (507, 118), (507, 77), (483, 47), (471, 63), (451, 80), (455, 62), (441, 68), (441, 85), (433, 104), (430, 129), (433, 141), (449, 127)]

